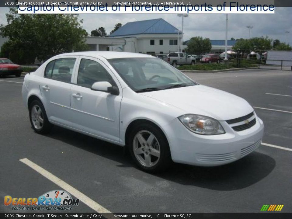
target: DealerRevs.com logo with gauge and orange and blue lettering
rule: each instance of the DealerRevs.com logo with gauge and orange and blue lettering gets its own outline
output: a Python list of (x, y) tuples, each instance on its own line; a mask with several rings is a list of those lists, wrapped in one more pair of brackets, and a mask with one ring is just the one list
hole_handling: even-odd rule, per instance
[(4, 197), (4, 205), (11, 205), (12, 210), (71, 210), (78, 204), (79, 199), (72, 199), (68, 192), (62, 190), (53, 190), (38, 198)]

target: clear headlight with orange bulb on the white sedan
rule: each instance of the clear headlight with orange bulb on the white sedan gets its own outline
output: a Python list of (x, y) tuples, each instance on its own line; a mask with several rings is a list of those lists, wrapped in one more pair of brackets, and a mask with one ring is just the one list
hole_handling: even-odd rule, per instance
[(179, 116), (178, 119), (185, 127), (196, 134), (215, 135), (225, 133), (223, 127), (217, 120), (207, 116), (185, 114)]

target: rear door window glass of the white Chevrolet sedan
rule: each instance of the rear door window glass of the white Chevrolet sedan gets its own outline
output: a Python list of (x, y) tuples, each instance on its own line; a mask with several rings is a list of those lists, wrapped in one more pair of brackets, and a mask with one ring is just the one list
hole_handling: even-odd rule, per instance
[(44, 77), (70, 83), (75, 61), (76, 58), (62, 58), (49, 62)]

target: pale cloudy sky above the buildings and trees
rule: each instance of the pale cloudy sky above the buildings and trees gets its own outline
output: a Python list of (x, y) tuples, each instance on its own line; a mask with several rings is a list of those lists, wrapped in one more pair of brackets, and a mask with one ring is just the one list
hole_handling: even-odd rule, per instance
[[(5, 13), (8, 7), (0, 7), (0, 23), (6, 24)], [(182, 19), (176, 14), (80, 14), (83, 19), (83, 28), (90, 34), (101, 26), (109, 34), (116, 23), (162, 18), (167, 22), (182, 29)], [(292, 45), (292, 7), (276, 7), (275, 14), (229, 14), (228, 39), (231, 37), (248, 38), (249, 31), (246, 26), (253, 26), (251, 37), (269, 36), (288, 42)], [(287, 35), (285, 31), (290, 31)], [(193, 36), (208, 37), (210, 40), (225, 39), (224, 14), (189, 14), (184, 18), (184, 38), (189, 40)]]

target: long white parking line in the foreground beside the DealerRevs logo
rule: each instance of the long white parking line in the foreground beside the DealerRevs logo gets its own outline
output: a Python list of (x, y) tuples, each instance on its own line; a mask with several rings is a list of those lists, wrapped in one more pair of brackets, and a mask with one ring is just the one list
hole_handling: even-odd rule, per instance
[(50, 181), (54, 182), (58, 186), (60, 186), (62, 189), (65, 189), (67, 192), (71, 193), (73, 196), (78, 198), (80, 201), (85, 203), (88, 207), (92, 208), (98, 213), (111, 213), (109, 210), (106, 208), (102, 207), (92, 199), (90, 199), (88, 196), (84, 195), (83, 193), (79, 192), (77, 189), (74, 187), (70, 186), (68, 183), (64, 182), (63, 180), (59, 179), (58, 177), (54, 176), (47, 170), (43, 169), (39, 165), (36, 165), (35, 163), (31, 162), (27, 158), (23, 158), (19, 160), (20, 162), (23, 162), (24, 164), (28, 165), (32, 169), (34, 169), (36, 172), (40, 173)]

